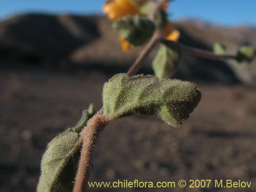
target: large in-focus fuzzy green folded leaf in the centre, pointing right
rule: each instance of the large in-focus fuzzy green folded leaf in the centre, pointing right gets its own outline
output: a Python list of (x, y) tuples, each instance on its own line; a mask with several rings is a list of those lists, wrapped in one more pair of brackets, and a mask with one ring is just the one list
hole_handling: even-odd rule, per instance
[(104, 115), (112, 119), (132, 114), (155, 115), (180, 126), (197, 106), (201, 92), (187, 81), (117, 74), (104, 84), (102, 97)]

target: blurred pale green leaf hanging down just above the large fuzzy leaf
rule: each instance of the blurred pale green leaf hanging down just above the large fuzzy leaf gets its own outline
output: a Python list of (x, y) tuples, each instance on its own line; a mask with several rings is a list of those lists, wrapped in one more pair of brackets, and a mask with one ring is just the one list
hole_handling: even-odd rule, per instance
[(159, 47), (152, 67), (160, 79), (171, 77), (177, 70), (181, 58), (181, 50), (174, 41), (166, 41)]

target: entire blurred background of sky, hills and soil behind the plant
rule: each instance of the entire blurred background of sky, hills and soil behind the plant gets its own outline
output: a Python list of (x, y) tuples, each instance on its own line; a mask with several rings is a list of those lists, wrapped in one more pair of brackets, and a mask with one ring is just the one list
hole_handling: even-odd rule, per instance
[[(35, 191), (47, 143), (90, 103), (100, 109), (103, 83), (126, 72), (140, 53), (122, 52), (103, 3), (1, 1), (0, 191)], [(169, 6), (184, 45), (211, 51), (220, 41), (234, 54), (239, 46), (256, 46), (253, 0), (176, 0)], [(153, 74), (154, 55), (140, 73)], [(147, 116), (111, 123), (98, 140), (91, 181), (241, 179), (252, 181), (245, 191), (256, 191), (255, 59), (248, 65), (183, 54), (174, 78), (201, 89), (190, 118), (179, 128)]]

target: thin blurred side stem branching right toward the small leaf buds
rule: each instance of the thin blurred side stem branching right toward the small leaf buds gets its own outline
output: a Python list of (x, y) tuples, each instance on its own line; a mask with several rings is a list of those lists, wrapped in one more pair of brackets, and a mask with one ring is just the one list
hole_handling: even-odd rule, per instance
[(209, 58), (209, 59), (214, 59), (214, 60), (237, 59), (237, 56), (234, 56), (234, 55), (227, 55), (227, 54), (216, 55), (215, 53), (210, 52), (210, 51), (205, 51), (205, 50), (201, 50), (201, 49), (188, 47), (188, 46), (182, 45), (180, 43), (179, 43), (179, 45), (180, 45), (180, 48), (182, 49), (182, 51), (189, 53), (189, 54), (193, 54), (195, 56), (203, 57), (203, 58)]

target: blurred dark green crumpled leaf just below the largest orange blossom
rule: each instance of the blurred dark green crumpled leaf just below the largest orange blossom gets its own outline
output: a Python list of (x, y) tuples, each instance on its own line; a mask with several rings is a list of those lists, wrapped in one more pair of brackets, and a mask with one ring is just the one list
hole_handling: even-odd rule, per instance
[(113, 28), (134, 46), (144, 45), (155, 31), (154, 23), (140, 15), (124, 16), (113, 23)]

